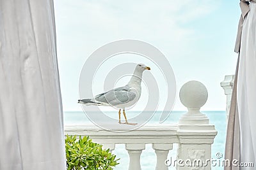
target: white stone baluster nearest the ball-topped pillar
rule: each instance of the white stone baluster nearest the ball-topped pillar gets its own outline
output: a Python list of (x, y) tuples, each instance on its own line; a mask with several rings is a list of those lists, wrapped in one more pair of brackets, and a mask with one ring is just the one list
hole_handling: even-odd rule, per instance
[(169, 150), (172, 150), (172, 144), (153, 143), (152, 148), (155, 150), (157, 158), (156, 170), (168, 170), (165, 160), (167, 159)]

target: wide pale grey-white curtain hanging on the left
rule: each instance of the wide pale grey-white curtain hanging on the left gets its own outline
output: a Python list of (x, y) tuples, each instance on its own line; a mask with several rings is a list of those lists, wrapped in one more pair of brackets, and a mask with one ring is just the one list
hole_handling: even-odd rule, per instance
[(0, 0), (0, 169), (65, 169), (52, 0)]

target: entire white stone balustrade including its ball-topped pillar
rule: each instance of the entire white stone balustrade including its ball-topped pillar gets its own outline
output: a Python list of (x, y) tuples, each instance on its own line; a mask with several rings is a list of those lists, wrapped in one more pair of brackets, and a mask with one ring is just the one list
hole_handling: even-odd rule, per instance
[[(146, 124), (133, 131), (107, 131), (95, 125), (66, 125), (65, 134), (90, 136), (94, 142), (104, 148), (115, 150), (115, 144), (125, 144), (129, 153), (129, 170), (140, 170), (140, 155), (145, 150), (145, 144), (152, 144), (156, 153), (156, 169), (166, 170), (165, 160), (173, 143), (178, 143), (177, 160), (200, 159), (205, 164), (211, 159), (211, 144), (217, 134), (214, 125), (209, 125), (209, 119), (200, 112), (207, 101), (207, 90), (198, 81), (189, 81), (180, 90), (180, 101), (188, 108), (188, 113), (182, 115), (179, 124)], [(118, 155), (117, 155), (118, 157)], [(143, 161), (143, 160), (142, 160)], [(209, 163), (209, 162), (208, 162)], [(177, 169), (211, 169), (211, 164), (205, 167), (176, 166)]]

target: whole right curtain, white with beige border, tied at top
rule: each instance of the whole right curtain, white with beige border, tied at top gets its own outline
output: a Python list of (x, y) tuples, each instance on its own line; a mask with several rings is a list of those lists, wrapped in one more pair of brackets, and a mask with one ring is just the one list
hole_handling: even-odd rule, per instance
[[(248, 0), (249, 1), (249, 0)], [(241, 0), (235, 51), (239, 52), (227, 127), (225, 159), (256, 163), (256, 1)], [(252, 167), (251, 167), (252, 168)]]

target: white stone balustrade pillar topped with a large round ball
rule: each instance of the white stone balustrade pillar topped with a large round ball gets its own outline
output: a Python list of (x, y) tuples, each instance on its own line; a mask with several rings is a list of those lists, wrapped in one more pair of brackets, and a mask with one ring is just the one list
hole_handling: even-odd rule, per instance
[(211, 145), (217, 131), (200, 112), (207, 97), (207, 89), (199, 81), (189, 81), (180, 89), (180, 101), (188, 112), (182, 115), (178, 125), (177, 169), (211, 169)]

